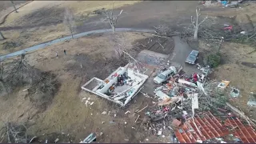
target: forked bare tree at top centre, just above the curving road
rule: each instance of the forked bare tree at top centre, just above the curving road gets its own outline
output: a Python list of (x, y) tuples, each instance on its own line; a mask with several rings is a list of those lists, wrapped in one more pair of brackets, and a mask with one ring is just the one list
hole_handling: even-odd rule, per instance
[(102, 13), (106, 15), (106, 19), (109, 20), (110, 26), (112, 28), (113, 34), (115, 32), (115, 26), (118, 23), (118, 18), (122, 14), (122, 10), (117, 16), (113, 16), (113, 10), (114, 10), (114, 2), (112, 6), (112, 10), (102, 10)]

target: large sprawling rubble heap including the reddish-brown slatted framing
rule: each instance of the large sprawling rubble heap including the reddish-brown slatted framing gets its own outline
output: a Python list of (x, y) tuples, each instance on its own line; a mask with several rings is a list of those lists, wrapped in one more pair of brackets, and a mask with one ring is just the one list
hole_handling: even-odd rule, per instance
[[(179, 68), (170, 79), (155, 88), (158, 102), (153, 102), (154, 106), (145, 113), (150, 118), (146, 130), (162, 137), (165, 136), (163, 131), (169, 130), (173, 142), (182, 143), (256, 142), (254, 122), (231, 106), (227, 101), (228, 93), (223, 92), (230, 82), (210, 81), (209, 73), (207, 66), (202, 74), (192, 75), (182, 73)], [(230, 98), (238, 97), (239, 90), (231, 89)]]

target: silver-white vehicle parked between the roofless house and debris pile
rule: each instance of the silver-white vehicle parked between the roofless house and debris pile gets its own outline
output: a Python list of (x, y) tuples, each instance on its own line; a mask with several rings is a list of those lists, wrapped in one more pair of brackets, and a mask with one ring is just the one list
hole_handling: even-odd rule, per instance
[(164, 70), (162, 73), (158, 74), (154, 78), (154, 82), (157, 84), (162, 84), (162, 82), (166, 82), (174, 74), (177, 74), (177, 70), (174, 66), (170, 66), (169, 69)]

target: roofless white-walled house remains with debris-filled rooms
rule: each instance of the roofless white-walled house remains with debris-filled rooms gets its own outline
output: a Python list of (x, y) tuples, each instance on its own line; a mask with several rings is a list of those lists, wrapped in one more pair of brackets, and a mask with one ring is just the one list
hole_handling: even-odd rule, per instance
[(126, 106), (142, 89), (146, 79), (149, 78), (130, 66), (131, 63), (128, 63), (124, 67), (119, 67), (105, 80), (92, 78), (82, 86), (82, 90), (106, 98), (119, 106)]

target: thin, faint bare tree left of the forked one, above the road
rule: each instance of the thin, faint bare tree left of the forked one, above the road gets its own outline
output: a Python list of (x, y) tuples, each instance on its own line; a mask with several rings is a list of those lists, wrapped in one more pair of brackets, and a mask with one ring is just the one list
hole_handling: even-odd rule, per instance
[(74, 38), (73, 37), (74, 27), (75, 27), (74, 14), (68, 8), (66, 8), (66, 10), (65, 10), (64, 21), (63, 22), (68, 27), (68, 29), (70, 30), (70, 34), (71, 34), (72, 38)]

